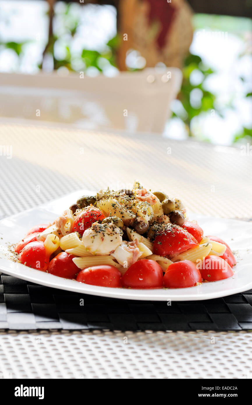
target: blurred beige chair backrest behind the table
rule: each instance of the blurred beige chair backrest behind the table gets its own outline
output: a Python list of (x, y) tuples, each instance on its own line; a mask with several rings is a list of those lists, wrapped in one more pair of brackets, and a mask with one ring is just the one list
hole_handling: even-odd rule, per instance
[(90, 129), (162, 132), (181, 82), (178, 68), (162, 73), (147, 68), (115, 77), (1, 73), (0, 115)]

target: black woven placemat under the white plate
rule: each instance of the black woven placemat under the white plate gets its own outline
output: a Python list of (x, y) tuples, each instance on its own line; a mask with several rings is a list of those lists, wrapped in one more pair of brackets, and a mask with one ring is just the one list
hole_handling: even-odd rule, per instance
[(131, 301), (83, 295), (1, 275), (4, 330), (252, 330), (252, 290), (205, 301)]

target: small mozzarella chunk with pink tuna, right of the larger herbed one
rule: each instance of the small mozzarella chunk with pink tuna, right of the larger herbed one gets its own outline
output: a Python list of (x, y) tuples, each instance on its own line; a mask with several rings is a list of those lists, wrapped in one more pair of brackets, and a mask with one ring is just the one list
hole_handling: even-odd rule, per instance
[[(138, 242), (138, 241), (137, 241)], [(123, 241), (120, 246), (115, 249), (114, 253), (111, 253), (111, 256), (117, 260), (124, 267), (129, 267), (131, 264), (135, 263), (142, 255), (139, 247), (134, 242), (125, 242)]]

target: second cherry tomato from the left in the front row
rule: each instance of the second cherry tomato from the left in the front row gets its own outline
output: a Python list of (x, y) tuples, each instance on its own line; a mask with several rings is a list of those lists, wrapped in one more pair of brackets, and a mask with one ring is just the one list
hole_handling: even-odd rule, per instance
[(72, 254), (61, 252), (53, 258), (47, 268), (48, 273), (68, 279), (76, 279), (79, 267), (73, 262)]

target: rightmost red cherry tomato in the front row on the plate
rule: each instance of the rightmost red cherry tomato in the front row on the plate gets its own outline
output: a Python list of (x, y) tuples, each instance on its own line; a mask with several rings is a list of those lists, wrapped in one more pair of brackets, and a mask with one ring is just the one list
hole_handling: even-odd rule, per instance
[(209, 255), (197, 264), (203, 280), (218, 281), (233, 276), (234, 272), (225, 260), (219, 256)]

